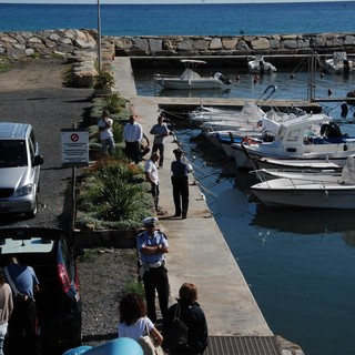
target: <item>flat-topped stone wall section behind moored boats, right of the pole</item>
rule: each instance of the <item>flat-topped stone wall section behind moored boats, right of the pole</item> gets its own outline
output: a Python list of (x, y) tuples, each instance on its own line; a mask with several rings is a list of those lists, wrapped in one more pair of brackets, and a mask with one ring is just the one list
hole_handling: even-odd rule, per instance
[(329, 54), (355, 52), (355, 33), (273, 34), (236, 37), (116, 37), (116, 55), (207, 57), (245, 54)]

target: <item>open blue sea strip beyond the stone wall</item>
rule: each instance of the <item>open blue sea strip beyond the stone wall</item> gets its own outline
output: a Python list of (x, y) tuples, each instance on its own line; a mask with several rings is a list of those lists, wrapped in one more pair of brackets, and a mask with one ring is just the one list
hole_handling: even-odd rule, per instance
[[(0, 3), (0, 31), (98, 28), (97, 4)], [(100, 14), (103, 36), (353, 32), (355, 2), (101, 4)]]

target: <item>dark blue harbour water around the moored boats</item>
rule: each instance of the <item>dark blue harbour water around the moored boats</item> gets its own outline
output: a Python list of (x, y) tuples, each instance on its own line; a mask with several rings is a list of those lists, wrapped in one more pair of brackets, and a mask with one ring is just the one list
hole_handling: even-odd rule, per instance
[[(156, 70), (156, 69), (155, 69)], [(255, 75), (240, 69), (225, 69), (233, 79), (231, 89), (221, 91), (162, 90), (153, 80), (154, 70), (134, 71), (140, 95), (245, 98), (272, 106), (273, 99), (306, 100), (310, 75), (305, 71)], [(239, 78), (235, 80), (235, 78)], [(355, 136), (354, 108), (341, 116), (339, 102), (322, 99), (346, 98), (354, 89), (355, 74), (315, 75), (315, 97), (323, 112), (339, 122), (344, 133)], [(263, 93), (277, 88), (265, 102)], [(211, 164), (211, 155), (196, 142), (201, 131), (169, 111), (176, 134), (194, 168), (194, 178), (206, 197), (211, 213), (235, 256), (251, 291), (270, 325), (283, 337), (300, 344), (306, 355), (351, 355), (355, 328), (354, 211), (266, 209), (250, 201), (255, 176), (237, 172), (222, 178), (223, 166)]]

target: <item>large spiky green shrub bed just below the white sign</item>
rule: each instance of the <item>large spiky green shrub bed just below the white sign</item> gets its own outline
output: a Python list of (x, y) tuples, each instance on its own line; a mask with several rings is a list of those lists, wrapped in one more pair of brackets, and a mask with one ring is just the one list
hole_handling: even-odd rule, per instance
[[(130, 230), (141, 226), (152, 206), (143, 170), (114, 156), (97, 161), (80, 184), (77, 225)], [(100, 226), (99, 226), (100, 225)]]

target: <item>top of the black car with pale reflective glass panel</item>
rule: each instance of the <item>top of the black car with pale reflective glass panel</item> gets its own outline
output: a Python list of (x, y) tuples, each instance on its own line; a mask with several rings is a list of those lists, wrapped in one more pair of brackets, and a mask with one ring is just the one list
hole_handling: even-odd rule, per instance
[(62, 234), (60, 229), (0, 229), (0, 255), (49, 253)]

